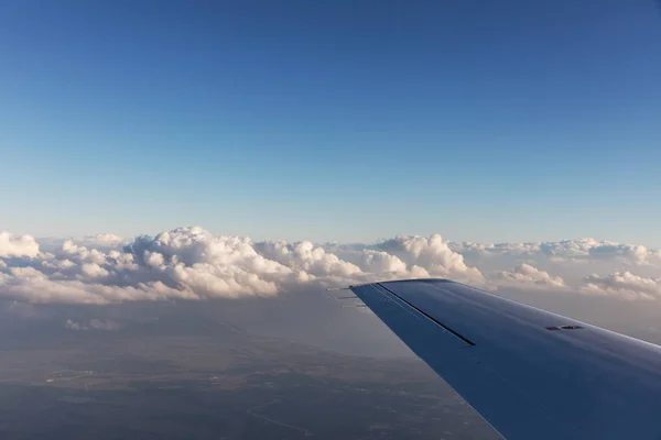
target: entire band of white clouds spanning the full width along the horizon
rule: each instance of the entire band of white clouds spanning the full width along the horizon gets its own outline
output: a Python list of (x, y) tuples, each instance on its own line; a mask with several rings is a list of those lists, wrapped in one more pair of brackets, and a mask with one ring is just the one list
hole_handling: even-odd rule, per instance
[[(112, 234), (35, 240), (1, 232), (0, 297), (76, 304), (236, 298), (444, 277), (487, 288), (542, 287), (655, 299), (661, 278), (630, 271), (657, 271), (660, 255), (642, 245), (594, 239), (484, 244), (448, 243), (433, 234), (401, 235), (370, 245), (321, 245), (215, 237), (198, 227), (132, 240)], [(576, 267), (583, 263), (598, 263), (606, 272), (577, 276)], [(495, 265), (509, 268), (490, 268)], [(74, 321), (67, 328), (76, 327), (99, 329)]]

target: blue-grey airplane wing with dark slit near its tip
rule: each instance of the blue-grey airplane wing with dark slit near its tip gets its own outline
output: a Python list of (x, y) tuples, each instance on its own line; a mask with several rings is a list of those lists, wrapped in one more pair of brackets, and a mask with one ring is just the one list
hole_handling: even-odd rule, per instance
[(507, 440), (661, 440), (661, 346), (446, 279), (350, 289)]

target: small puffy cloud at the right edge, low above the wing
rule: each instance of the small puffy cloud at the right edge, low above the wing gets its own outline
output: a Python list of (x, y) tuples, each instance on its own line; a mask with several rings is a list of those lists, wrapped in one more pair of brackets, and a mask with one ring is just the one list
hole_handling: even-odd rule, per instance
[(583, 292), (593, 295), (611, 295), (624, 299), (654, 300), (661, 297), (661, 277), (646, 278), (630, 272), (616, 272), (585, 278)]

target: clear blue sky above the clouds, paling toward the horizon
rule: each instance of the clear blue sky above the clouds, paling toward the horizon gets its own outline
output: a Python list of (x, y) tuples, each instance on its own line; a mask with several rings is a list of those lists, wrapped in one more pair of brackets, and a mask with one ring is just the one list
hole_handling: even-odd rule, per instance
[(0, 42), (0, 230), (661, 245), (652, 0), (6, 0)]

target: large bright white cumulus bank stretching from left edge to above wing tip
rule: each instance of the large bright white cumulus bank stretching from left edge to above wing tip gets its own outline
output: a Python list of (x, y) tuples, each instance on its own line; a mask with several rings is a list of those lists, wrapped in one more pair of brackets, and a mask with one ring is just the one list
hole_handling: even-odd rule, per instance
[(12, 243), (32, 245), (30, 258), (0, 258), (0, 295), (32, 302), (108, 304), (270, 296), (405, 277), (481, 279), (440, 235), (395, 238), (380, 249), (355, 250), (348, 260), (310, 241), (253, 242), (215, 237), (198, 227), (106, 246), (119, 241), (116, 235), (63, 240), (55, 246), (50, 242), (45, 252), (32, 238), (12, 235)]

